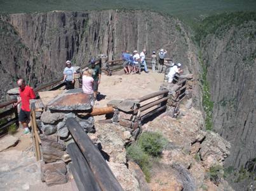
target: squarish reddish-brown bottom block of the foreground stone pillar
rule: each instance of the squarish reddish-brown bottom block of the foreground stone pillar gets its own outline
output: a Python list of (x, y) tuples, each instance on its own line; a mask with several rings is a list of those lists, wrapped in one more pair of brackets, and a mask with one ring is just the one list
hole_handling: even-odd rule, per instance
[(48, 186), (66, 183), (66, 173), (67, 168), (63, 161), (41, 163), (41, 180)]

